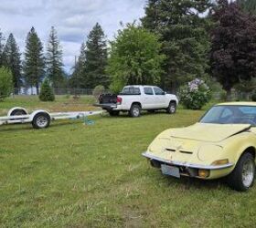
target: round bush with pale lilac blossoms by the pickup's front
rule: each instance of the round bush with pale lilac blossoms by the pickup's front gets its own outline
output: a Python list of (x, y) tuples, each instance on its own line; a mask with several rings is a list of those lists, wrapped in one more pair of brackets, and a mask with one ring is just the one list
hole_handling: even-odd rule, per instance
[(203, 80), (196, 78), (180, 89), (179, 97), (187, 109), (201, 109), (210, 99), (210, 90)]

